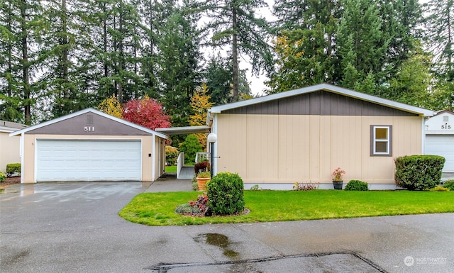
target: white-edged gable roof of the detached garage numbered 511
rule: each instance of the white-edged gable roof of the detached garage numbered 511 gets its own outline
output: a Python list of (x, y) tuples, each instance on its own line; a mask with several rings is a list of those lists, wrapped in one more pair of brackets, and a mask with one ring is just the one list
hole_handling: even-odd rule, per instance
[(96, 115), (99, 115), (99, 116), (103, 116), (104, 118), (109, 118), (110, 120), (116, 121), (116, 122), (121, 123), (121, 124), (123, 124), (123, 125), (131, 126), (132, 128), (135, 128), (135, 129), (138, 129), (138, 130), (142, 130), (142, 131), (145, 132), (145, 133), (150, 133), (150, 134), (152, 134), (152, 135), (157, 135), (157, 136), (160, 137), (160, 138), (165, 138), (165, 139), (167, 139), (167, 135), (164, 135), (164, 134), (162, 134), (162, 133), (157, 133), (157, 132), (155, 132), (154, 130), (151, 130), (151, 129), (149, 129), (149, 128), (145, 128), (145, 127), (139, 126), (139, 125), (137, 125), (137, 124), (135, 124), (135, 123), (131, 123), (131, 122), (129, 122), (129, 121), (125, 121), (125, 120), (123, 120), (123, 119), (121, 119), (121, 118), (116, 118), (116, 117), (114, 117), (114, 116), (111, 116), (111, 115), (109, 115), (109, 114), (103, 113), (103, 112), (101, 112), (101, 111), (97, 111), (97, 110), (95, 110), (94, 108), (87, 108), (87, 109), (84, 109), (84, 110), (81, 110), (81, 111), (77, 111), (77, 112), (74, 112), (74, 113), (70, 113), (70, 114), (67, 115), (67, 116), (62, 116), (62, 117), (60, 117), (60, 118), (52, 119), (51, 121), (45, 121), (45, 122), (40, 123), (40, 124), (37, 124), (37, 125), (35, 125), (35, 126), (30, 126), (30, 127), (28, 127), (28, 128), (24, 128), (24, 129), (22, 129), (22, 130), (16, 130), (15, 132), (10, 133), (9, 135), (10, 135), (10, 136), (13, 136), (13, 135), (20, 135), (20, 134), (22, 134), (22, 133), (27, 133), (28, 131), (31, 131), (31, 130), (36, 130), (36, 129), (38, 129), (38, 128), (43, 128), (43, 127), (45, 127), (45, 126), (50, 126), (50, 125), (52, 125), (52, 124), (54, 124), (54, 123), (58, 123), (58, 122), (60, 122), (60, 121), (65, 121), (65, 120), (67, 120), (67, 119), (74, 118), (74, 117), (76, 117), (76, 116), (80, 116), (80, 115), (83, 115), (84, 113), (90, 113), (90, 112), (91, 112), (91, 113), (94, 113), (94, 114), (96, 114)]

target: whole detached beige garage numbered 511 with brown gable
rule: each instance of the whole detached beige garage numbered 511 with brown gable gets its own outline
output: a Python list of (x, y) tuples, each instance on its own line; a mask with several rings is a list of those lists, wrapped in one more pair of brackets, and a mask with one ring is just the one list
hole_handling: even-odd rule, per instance
[(87, 108), (10, 134), (21, 136), (21, 182), (152, 182), (166, 135)]

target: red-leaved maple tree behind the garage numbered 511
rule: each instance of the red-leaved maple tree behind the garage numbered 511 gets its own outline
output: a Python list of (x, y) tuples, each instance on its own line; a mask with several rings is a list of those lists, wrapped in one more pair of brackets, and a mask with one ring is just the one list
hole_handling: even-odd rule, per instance
[(167, 128), (172, 126), (170, 116), (167, 116), (162, 104), (155, 99), (145, 96), (143, 99), (134, 99), (123, 105), (123, 118), (137, 125), (150, 128)]

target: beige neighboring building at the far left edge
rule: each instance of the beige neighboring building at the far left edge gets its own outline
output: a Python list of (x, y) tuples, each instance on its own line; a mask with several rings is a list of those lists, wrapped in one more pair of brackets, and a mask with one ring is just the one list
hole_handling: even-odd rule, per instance
[(21, 162), (20, 138), (10, 138), (9, 133), (26, 128), (26, 125), (10, 121), (0, 121), (0, 171), (6, 172), (6, 165)]

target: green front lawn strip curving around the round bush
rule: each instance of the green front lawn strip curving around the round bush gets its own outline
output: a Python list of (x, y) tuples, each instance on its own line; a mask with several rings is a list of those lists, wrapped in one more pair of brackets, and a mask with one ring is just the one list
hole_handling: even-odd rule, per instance
[(454, 191), (244, 191), (243, 216), (192, 217), (175, 208), (196, 191), (139, 194), (119, 213), (143, 225), (254, 223), (454, 212)]

